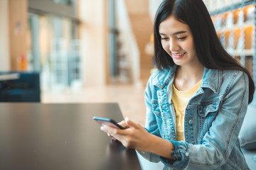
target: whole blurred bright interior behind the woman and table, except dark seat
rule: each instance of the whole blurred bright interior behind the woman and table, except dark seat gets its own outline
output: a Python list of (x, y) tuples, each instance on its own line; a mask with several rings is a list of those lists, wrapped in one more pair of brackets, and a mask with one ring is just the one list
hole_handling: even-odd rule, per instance
[[(256, 77), (255, 1), (204, 1), (223, 46)], [(0, 0), (0, 72), (39, 74), (41, 103), (117, 102), (144, 124), (161, 0)]]

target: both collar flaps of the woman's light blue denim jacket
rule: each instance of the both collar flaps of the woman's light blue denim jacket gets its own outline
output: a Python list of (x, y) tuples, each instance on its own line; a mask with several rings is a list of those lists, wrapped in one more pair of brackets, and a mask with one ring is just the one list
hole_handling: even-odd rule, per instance
[[(174, 81), (174, 75), (176, 72), (177, 65), (174, 67), (169, 67), (168, 69), (163, 69), (154, 73), (154, 78), (152, 84), (164, 89), (168, 84), (172, 84)], [(220, 92), (220, 84), (222, 82), (223, 72), (218, 69), (208, 69), (203, 70), (203, 81), (202, 88), (211, 89), (215, 94)]]

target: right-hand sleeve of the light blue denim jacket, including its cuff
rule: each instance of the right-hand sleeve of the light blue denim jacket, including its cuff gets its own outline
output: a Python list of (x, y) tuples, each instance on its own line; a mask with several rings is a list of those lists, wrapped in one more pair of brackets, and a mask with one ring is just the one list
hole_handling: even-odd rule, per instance
[[(161, 157), (164, 164), (174, 169), (218, 169), (226, 164), (245, 117), (248, 105), (248, 77), (243, 72), (235, 72), (230, 78), (218, 113), (215, 115), (208, 132), (203, 136), (200, 145), (187, 142), (173, 142), (175, 149), (171, 151), (176, 159)], [(242, 169), (242, 168), (241, 168)]]

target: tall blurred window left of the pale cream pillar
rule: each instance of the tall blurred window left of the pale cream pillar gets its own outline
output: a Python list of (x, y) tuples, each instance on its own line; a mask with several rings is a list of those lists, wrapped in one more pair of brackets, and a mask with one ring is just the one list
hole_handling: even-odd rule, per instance
[(78, 86), (82, 83), (78, 21), (70, 17), (72, 13), (63, 16), (47, 8), (53, 3), (59, 7), (73, 6), (74, 1), (43, 2), (38, 8), (33, 4), (28, 11), (28, 69), (41, 73), (43, 90), (61, 91)]

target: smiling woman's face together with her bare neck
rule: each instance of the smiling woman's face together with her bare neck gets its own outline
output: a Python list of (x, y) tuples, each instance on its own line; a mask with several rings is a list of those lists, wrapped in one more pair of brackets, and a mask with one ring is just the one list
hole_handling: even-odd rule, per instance
[(203, 65), (199, 62), (193, 43), (191, 29), (185, 23), (169, 16), (159, 25), (161, 45), (178, 66), (174, 86), (186, 91), (191, 89), (203, 76)]

